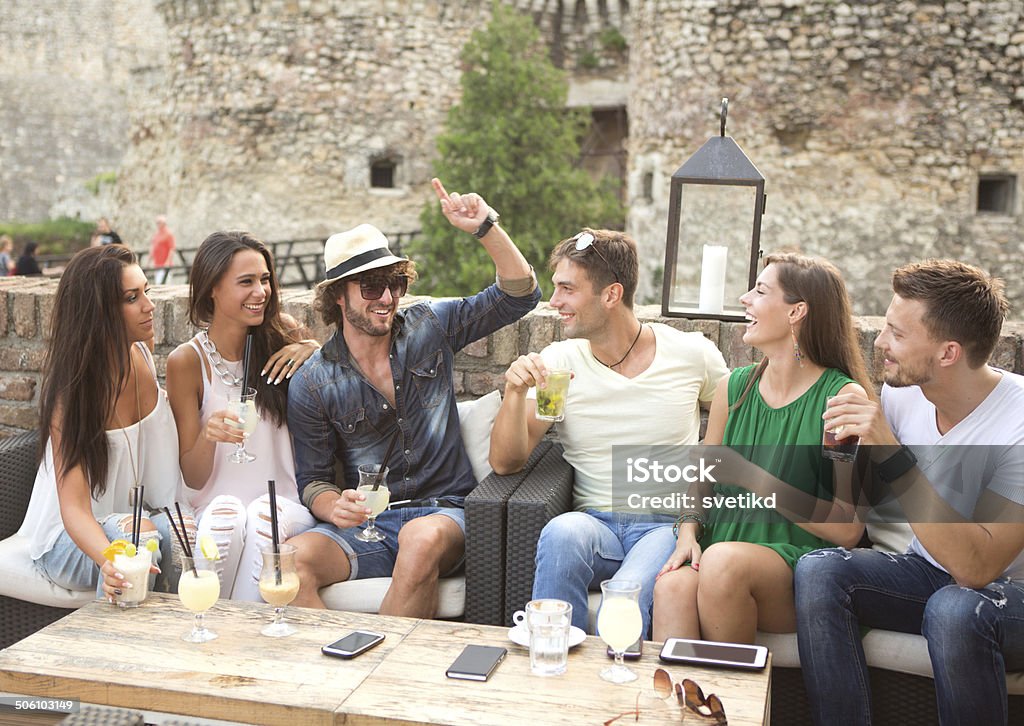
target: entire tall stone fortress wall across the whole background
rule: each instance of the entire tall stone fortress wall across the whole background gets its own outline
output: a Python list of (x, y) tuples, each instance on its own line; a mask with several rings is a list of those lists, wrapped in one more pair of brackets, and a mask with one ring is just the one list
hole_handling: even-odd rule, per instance
[[(1004, 276), (1021, 314), (1024, 0), (506, 1), (572, 73), (570, 102), (627, 105), (641, 300), (660, 289), (671, 174), (729, 96), (729, 133), (767, 177), (765, 250), (835, 260), (859, 313), (882, 312), (897, 264), (965, 259)], [(15, 101), (0, 104), (0, 218), (121, 161), (114, 216), (137, 248), (164, 212), (184, 247), (225, 227), (417, 228), (459, 51), (490, 0), (65, 7), (0, 5)], [(626, 49), (602, 45), (610, 29)], [(371, 188), (381, 158), (395, 188)], [(976, 212), (986, 174), (1016, 175), (1008, 214)], [(480, 191), (500, 208), (501, 189)]]

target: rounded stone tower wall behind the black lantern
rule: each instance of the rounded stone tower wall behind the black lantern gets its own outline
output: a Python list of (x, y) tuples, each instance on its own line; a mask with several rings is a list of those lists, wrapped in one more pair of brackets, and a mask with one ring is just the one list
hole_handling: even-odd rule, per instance
[[(664, 262), (671, 174), (728, 133), (767, 179), (762, 248), (836, 261), (881, 313), (892, 269), (954, 257), (1024, 309), (1024, 2), (660, 0), (632, 4), (629, 228)], [(645, 200), (644, 174), (653, 173)], [(1018, 175), (977, 214), (980, 173)]]

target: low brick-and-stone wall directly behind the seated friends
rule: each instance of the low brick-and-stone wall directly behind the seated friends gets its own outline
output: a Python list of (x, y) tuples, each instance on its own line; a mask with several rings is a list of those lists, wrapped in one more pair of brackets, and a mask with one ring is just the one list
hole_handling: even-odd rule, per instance
[[(56, 282), (32, 277), (0, 277), (0, 435), (5, 429), (33, 428), (38, 425), (40, 371), (47, 341), (47, 328), (53, 309)], [(310, 303), (312, 293), (286, 291), (282, 294), (286, 312), (309, 325), (319, 340), (328, 330), (314, 318)], [(164, 375), (167, 354), (195, 335), (188, 323), (186, 286), (159, 286), (152, 295), (155, 311), (157, 366)], [(415, 301), (416, 298), (410, 298)], [(659, 308), (639, 306), (644, 321), (660, 321), (685, 331), (699, 331), (714, 341), (730, 368), (753, 362), (753, 350), (742, 343), (742, 325), (711, 321), (666, 319)], [(883, 321), (860, 317), (861, 348), (878, 382), (881, 361), (876, 359), (871, 341)], [(477, 397), (504, 388), (504, 373), (522, 353), (541, 350), (559, 340), (557, 314), (542, 303), (513, 326), (464, 348), (456, 357), (455, 385), (461, 397)], [(995, 366), (1024, 373), (1022, 357), (1024, 323), (1007, 323), (992, 356)]]

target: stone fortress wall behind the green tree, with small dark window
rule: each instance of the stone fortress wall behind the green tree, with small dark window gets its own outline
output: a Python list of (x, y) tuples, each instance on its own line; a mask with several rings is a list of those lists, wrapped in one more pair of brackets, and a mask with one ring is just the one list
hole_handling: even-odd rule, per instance
[[(532, 11), (569, 68), (606, 23), (624, 18), (617, 2), (515, 4)], [(460, 94), (459, 54), (489, 20), (490, 0), (157, 8), (169, 32), (165, 102), (133, 125), (119, 186), (125, 228), (147, 230), (166, 212), (184, 246), (216, 228), (267, 240), (324, 238), (364, 221), (419, 228), (434, 139)], [(620, 56), (595, 53), (593, 73)], [(394, 188), (371, 187), (382, 158), (397, 163)], [(500, 199), (500, 189), (481, 191)]]

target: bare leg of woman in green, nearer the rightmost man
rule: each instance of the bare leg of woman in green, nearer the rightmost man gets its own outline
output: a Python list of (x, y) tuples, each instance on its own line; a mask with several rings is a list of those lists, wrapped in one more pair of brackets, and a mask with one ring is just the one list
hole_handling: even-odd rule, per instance
[(700, 558), (697, 612), (708, 640), (753, 643), (759, 628), (793, 633), (793, 570), (777, 552), (762, 545), (712, 545)]

